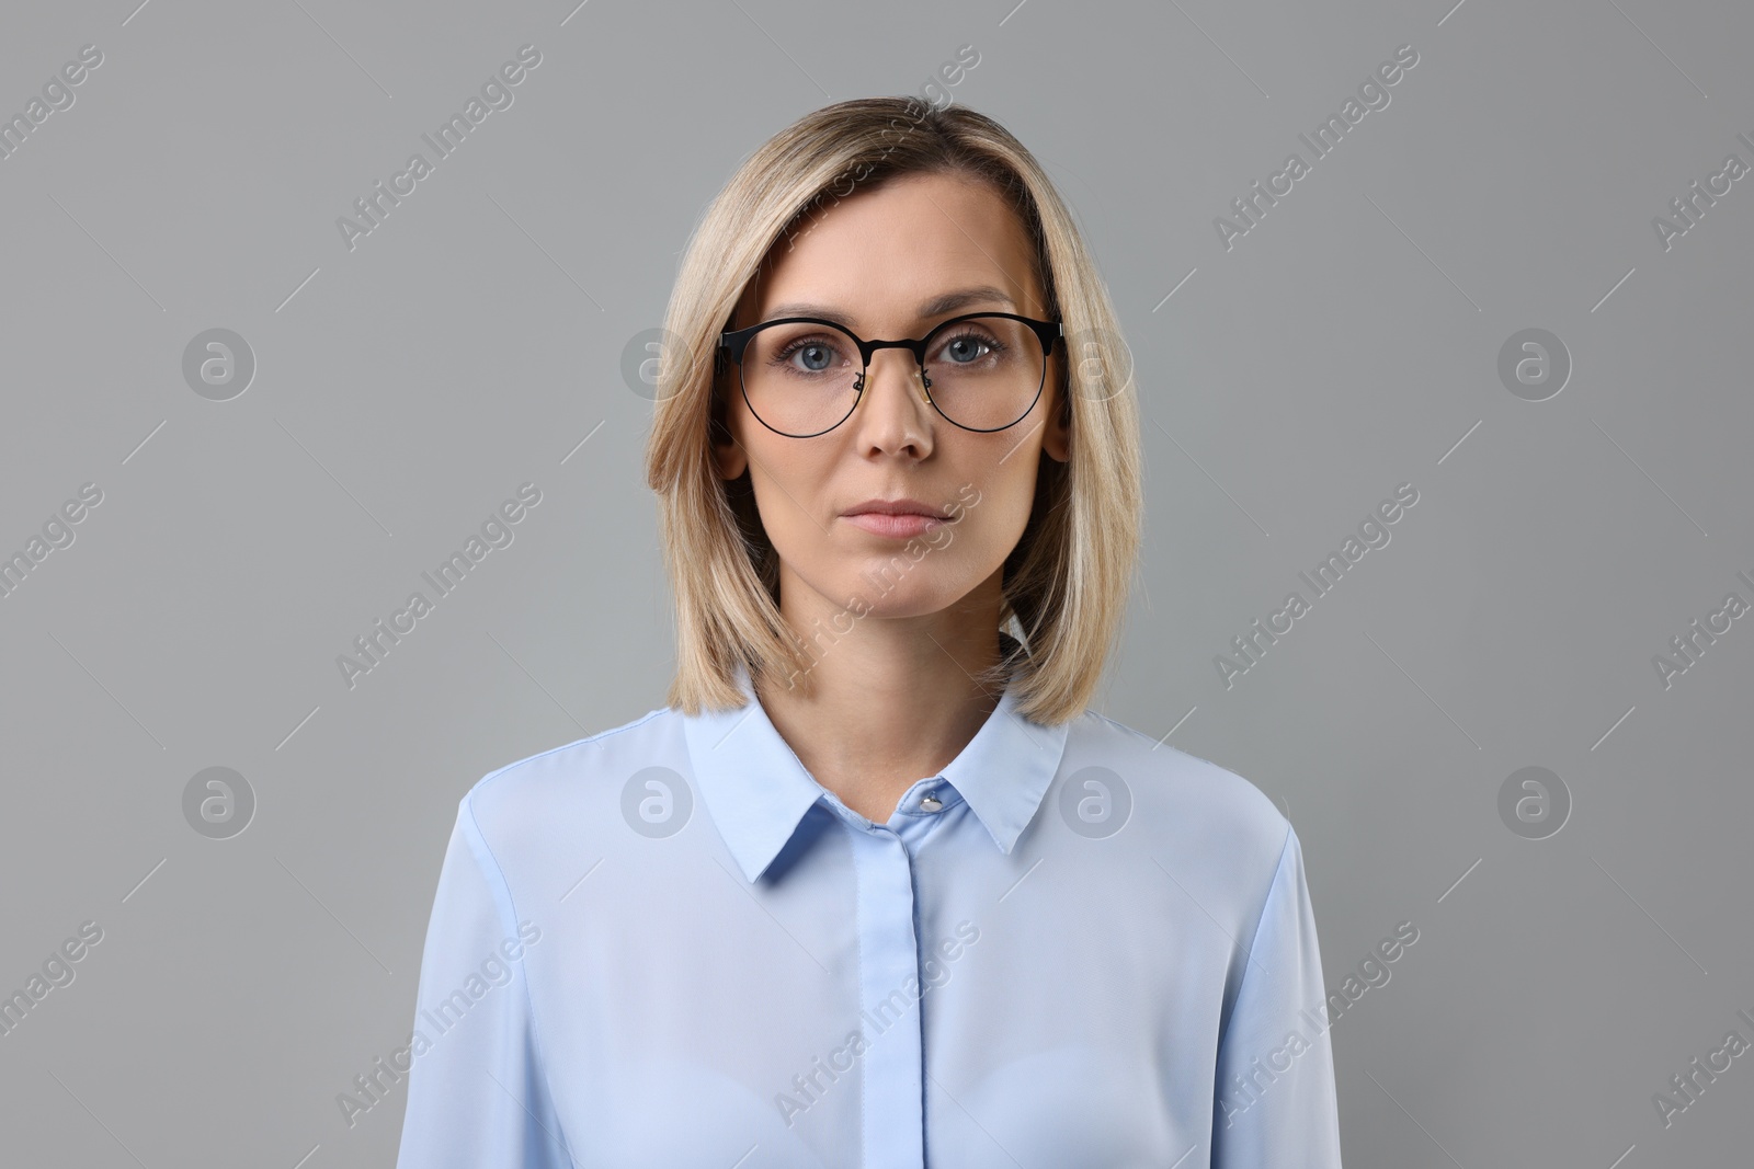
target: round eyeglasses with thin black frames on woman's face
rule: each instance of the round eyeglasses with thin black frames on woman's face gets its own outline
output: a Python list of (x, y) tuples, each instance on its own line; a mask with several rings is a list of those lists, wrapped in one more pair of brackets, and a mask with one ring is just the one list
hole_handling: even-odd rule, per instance
[(845, 422), (879, 349), (912, 352), (926, 401), (947, 422), (986, 433), (1035, 408), (1065, 331), (1059, 321), (970, 312), (919, 340), (868, 342), (821, 317), (781, 317), (721, 333), (719, 352), (737, 363), (751, 414), (777, 435), (816, 438)]

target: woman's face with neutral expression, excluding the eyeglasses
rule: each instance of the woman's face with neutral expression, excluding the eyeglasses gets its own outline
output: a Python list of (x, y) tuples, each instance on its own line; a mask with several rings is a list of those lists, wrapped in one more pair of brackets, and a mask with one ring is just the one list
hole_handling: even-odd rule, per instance
[[(961, 177), (905, 175), (856, 191), (789, 244), (774, 247), (733, 328), (845, 314), (865, 340), (895, 340), (984, 308), (1049, 319), (1017, 216), (988, 186)], [(991, 291), (921, 315), (928, 301), (970, 289)], [(977, 433), (924, 400), (909, 351), (879, 349), (852, 415), (814, 438), (791, 438), (749, 412), (733, 365), (723, 393), (735, 442), (716, 447), (716, 457), (724, 478), (749, 471), (781, 559), (782, 612), (809, 624), (840, 610), (919, 617), (966, 601), (977, 615), (996, 605), (1002, 566), (1030, 519), (1040, 452), (1061, 463), (1068, 456), (1059, 368), (1056, 344), (1030, 414)], [(900, 498), (952, 519), (889, 535), (882, 519), (849, 515), (868, 499)]]

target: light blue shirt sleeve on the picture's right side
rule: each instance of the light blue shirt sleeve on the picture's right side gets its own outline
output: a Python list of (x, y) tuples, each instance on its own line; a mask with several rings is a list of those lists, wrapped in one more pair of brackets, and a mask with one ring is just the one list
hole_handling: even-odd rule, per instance
[(1279, 871), (1217, 1050), (1212, 1169), (1340, 1169), (1340, 1111), (1303, 847)]

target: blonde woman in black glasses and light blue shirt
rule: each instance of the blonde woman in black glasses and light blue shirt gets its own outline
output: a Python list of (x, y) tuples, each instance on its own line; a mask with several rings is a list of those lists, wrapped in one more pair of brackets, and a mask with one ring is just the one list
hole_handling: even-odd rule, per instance
[(1086, 710), (1137, 403), (1035, 158), (809, 114), (667, 331), (670, 705), (460, 803), (400, 1165), (1338, 1165), (1296, 834)]

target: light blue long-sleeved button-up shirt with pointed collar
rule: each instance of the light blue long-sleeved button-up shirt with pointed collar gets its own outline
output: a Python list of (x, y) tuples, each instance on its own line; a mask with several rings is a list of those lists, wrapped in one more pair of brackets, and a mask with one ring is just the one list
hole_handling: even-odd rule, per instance
[(1259, 789), (1005, 691), (877, 824), (738, 680), (463, 796), (400, 1169), (1338, 1169), (1303, 854)]

